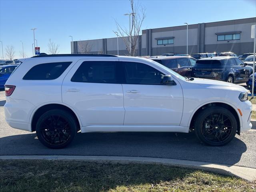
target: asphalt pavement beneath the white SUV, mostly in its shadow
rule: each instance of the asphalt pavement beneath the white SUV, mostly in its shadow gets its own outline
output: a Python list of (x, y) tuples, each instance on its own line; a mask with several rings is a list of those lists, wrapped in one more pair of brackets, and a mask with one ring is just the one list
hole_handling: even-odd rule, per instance
[(194, 160), (256, 168), (256, 128), (236, 135), (222, 147), (206, 146), (194, 132), (186, 133), (78, 133), (70, 146), (44, 147), (35, 133), (8, 126), (5, 96), (0, 91), (0, 155), (142, 156)]

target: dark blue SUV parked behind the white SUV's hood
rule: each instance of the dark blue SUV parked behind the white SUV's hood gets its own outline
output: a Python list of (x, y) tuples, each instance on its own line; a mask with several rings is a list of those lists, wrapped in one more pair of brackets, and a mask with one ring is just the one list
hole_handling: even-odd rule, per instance
[(196, 61), (192, 77), (226, 81), (229, 83), (248, 82), (252, 67), (246, 66), (238, 57), (213, 57)]

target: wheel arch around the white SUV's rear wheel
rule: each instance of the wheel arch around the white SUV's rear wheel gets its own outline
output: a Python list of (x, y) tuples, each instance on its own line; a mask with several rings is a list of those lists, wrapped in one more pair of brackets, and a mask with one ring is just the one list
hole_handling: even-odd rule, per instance
[(78, 128), (80, 129), (82, 127), (82, 123), (81, 123), (81, 120), (80, 120), (78, 114), (70, 106), (68, 106), (64, 103), (58, 103), (58, 102), (56, 102), (56, 103), (45, 103), (45, 104), (42, 104), (42, 105), (38, 106), (36, 109), (34, 109), (34, 111), (32, 112), (32, 114), (30, 116), (31, 132), (36, 130), (36, 121), (40, 117), (40, 115), (42, 115), (44, 112), (46, 112), (48, 110), (52, 110), (52, 109), (62, 109), (62, 110), (68, 111), (70, 114), (72, 114), (72, 116), (76, 120)]

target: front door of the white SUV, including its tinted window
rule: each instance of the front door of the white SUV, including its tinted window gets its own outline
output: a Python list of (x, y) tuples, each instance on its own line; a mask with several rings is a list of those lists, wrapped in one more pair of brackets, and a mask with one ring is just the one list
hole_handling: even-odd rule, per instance
[(124, 68), (124, 125), (180, 125), (183, 93), (176, 85), (161, 84), (165, 75), (147, 62), (121, 60)]

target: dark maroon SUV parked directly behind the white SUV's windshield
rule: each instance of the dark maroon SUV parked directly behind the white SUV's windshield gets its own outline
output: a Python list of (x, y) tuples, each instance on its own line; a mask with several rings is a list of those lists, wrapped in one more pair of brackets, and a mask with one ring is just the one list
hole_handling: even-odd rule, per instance
[(196, 59), (188, 56), (170, 56), (152, 58), (152, 60), (168, 67), (184, 77), (191, 76), (192, 66), (196, 64)]

